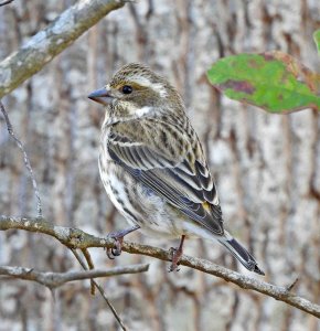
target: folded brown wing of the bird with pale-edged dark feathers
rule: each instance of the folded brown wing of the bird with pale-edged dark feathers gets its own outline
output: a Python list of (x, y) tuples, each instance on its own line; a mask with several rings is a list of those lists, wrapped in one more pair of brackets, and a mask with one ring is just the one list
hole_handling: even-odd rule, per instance
[[(177, 138), (178, 131), (173, 134), (174, 130), (171, 130), (170, 134), (170, 130), (163, 132), (162, 129), (161, 125), (158, 126), (152, 132), (152, 139), (141, 141), (137, 139), (136, 130), (124, 130), (121, 125), (115, 126), (109, 136), (108, 152), (114, 161), (137, 181), (164, 197), (199, 225), (216, 235), (223, 235), (222, 212), (216, 189), (198, 137), (195, 136), (194, 148), (188, 150), (182, 147), (188, 146), (183, 143), (183, 139), (188, 138), (181, 134), (178, 141), (182, 142), (178, 154), (177, 149), (175, 152), (171, 149), (170, 153), (169, 147), (163, 148), (161, 137), (174, 135)], [(171, 141), (168, 137), (164, 140), (167, 143)], [(200, 153), (199, 158), (192, 150)]]

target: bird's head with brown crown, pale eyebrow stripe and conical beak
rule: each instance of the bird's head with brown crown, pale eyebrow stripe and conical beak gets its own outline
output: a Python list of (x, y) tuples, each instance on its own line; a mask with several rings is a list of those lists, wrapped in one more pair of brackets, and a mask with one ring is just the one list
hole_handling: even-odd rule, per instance
[(106, 106), (106, 117), (113, 121), (184, 111), (175, 88), (138, 63), (121, 67), (104, 88), (93, 92), (88, 98)]

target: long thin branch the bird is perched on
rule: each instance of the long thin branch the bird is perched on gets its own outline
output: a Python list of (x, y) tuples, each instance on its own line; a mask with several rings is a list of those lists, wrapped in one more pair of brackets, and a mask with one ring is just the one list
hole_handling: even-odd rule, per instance
[[(44, 218), (1, 216), (0, 231), (12, 228), (40, 232), (53, 236), (63, 245), (70, 248), (111, 248), (115, 245), (115, 241), (110, 237), (100, 238), (87, 234), (78, 228), (54, 226), (52, 223), (45, 221)], [(152, 246), (124, 242), (122, 250), (130, 254), (147, 255), (162, 260), (171, 260), (171, 254), (168, 250)], [(205, 259), (186, 255), (183, 255), (181, 257), (180, 265), (188, 266), (205, 274), (223, 278), (224, 280), (233, 282), (243, 289), (250, 289), (264, 293), (268, 297), (273, 297), (276, 300), (284, 301), (307, 313), (320, 318), (320, 306), (290, 292), (287, 287), (275, 286), (266, 281), (260, 281), (236, 271), (228, 270)]]

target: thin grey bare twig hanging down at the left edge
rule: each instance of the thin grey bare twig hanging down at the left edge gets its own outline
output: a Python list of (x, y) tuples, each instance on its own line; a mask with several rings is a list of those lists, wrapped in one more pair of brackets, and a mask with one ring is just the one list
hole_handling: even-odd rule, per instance
[(26, 151), (25, 151), (25, 149), (24, 149), (22, 142), (21, 142), (21, 141), (17, 138), (17, 136), (14, 135), (12, 125), (11, 125), (10, 119), (9, 119), (9, 116), (8, 116), (8, 113), (6, 111), (6, 108), (4, 108), (4, 106), (3, 106), (3, 104), (2, 104), (1, 100), (0, 100), (0, 108), (1, 108), (2, 115), (3, 115), (3, 117), (4, 117), (4, 120), (6, 120), (6, 125), (7, 125), (7, 129), (8, 129), (9, 135), (13, 138), (13, 140), (14, 140), (15, 143), (17, 143), (17, 146), (18, 146), (18, 147), (20, 148), (20, 150), (22, 151), (22, 154), (23, 154), (23, 161), (24, 161), (25, 168), (26, 168), (28, 171), (29, 171), (29, 175), (30, 175), (30, 179), (31, 179), (31, 182), (32, 182), (34, 195), (35, 195), (35, 199), (36, 199), (36, 214), (38, 214), (38, 217), (42, 217), (42, 205), (41, 205), (41, 199), (40, 199), (40, 194), (39, 194), (39, 190), (38, 190), (38, 184), (36, 184), (36, 181), (35, 181), (35, 178), (34, 178), (34, 174), (33, 174), (33, 170), (32, 170), (30, 160), (29, 160), (29, 158), (28, 158)]

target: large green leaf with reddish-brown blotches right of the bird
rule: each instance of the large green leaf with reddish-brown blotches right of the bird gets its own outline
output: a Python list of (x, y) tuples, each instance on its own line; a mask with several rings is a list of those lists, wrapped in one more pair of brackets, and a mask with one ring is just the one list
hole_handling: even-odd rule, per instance
[(320, 76), (281, 52), (221, 58), (207, 77), (230, 98), (270, 113), (320, 109)]

